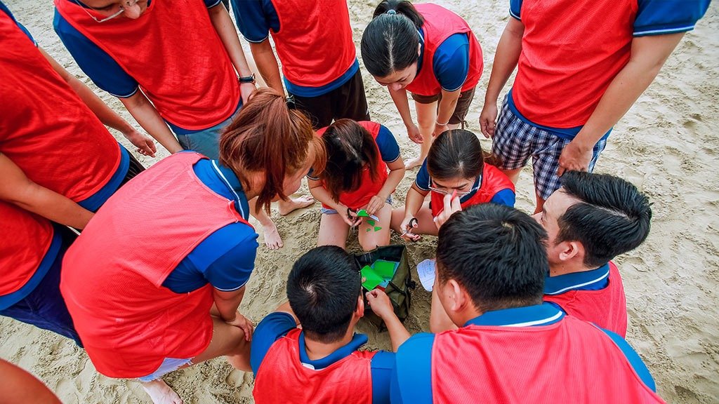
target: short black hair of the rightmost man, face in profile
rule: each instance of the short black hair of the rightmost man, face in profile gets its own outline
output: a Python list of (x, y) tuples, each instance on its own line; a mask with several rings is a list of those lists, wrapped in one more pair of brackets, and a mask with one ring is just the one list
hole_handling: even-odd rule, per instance
[(583, 171), (564, 173), (561, 180), (561, 191), (580, 202), (557, 219), (557, 243), (581, 242), (585, 266), (601, 267), (646, 240), (651, 203), (632, 183), (614, 175)]

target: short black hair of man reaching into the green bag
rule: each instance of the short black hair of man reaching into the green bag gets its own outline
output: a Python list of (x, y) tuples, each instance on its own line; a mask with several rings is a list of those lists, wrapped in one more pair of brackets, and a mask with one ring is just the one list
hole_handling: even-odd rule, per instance
[(306, 336), (329, 344), (347, 333), (361, 285), (357, 262), (344, 249), (316, 247), (293, 265), (287, 298)]

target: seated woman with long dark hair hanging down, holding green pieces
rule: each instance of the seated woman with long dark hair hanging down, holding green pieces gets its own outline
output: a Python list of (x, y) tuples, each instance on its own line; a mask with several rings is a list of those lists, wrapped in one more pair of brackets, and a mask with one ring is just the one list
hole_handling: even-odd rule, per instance
[[(375, 122), (339, 119), (317, 134), (328, 159), (320, 175), (308, 175), (310, 192), (322, 203), (317, 244), (344, 248), (355, 226), (366, 251), (390, 244), (390, 196), (405, 171), (392, 132)], [(378, 220), (358, 217), (360, 209)]]

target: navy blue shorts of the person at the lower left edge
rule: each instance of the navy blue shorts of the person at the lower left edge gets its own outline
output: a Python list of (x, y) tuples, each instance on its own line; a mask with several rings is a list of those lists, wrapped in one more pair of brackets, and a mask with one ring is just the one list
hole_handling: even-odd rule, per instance
[(56, 226), (55, 229), (63, 233), (63, 245), (55, 262), (52, 262), (52, 267), (47, 270), (47, 274), (35, 290), (24, 299), (0, 311), (0, 316), (12, 317), (17, 321), (55, 332), (73, 339), (78, 346), (83, 346), (73, 326), (68, 307), (65, 306), (65, 300), (60, 295), (60, 267), (65, 251), (75, 239), (75, 234), (68, 229), (60, 229), (60, 226)]

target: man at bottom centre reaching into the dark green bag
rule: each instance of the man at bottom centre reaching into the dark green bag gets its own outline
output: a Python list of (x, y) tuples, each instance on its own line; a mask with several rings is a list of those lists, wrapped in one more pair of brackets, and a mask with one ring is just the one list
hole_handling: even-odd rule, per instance
[[(409, 333), (384, 292), (366, 297), (396, 351)], [(354, 334), (365, 313), (354, 258), (336, 246), (311, 249), (290, 271), (287, 298), (252, 336), (255, 403), (389, 403), (395, 354), (360, 350), (367, 336)]]

